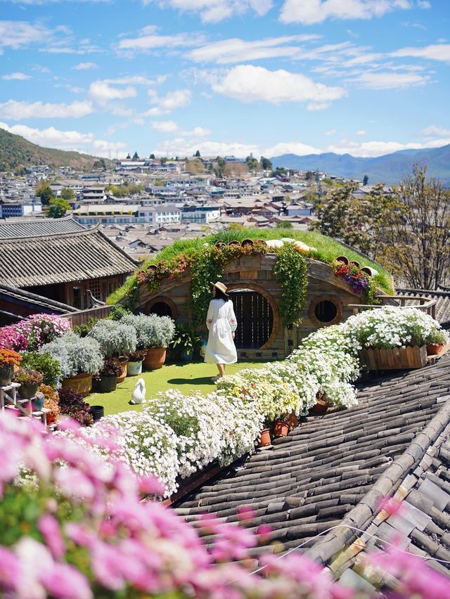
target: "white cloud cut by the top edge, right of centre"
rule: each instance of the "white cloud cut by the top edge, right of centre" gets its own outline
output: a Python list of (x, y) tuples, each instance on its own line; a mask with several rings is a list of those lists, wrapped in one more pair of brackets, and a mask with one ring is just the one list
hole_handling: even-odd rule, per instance
[(411, 8), (409, 0), (285, 0), (280, 20), (313, 25), (328, 18), (371, 19), (397, 8)]

